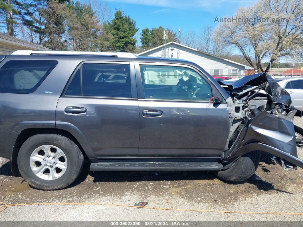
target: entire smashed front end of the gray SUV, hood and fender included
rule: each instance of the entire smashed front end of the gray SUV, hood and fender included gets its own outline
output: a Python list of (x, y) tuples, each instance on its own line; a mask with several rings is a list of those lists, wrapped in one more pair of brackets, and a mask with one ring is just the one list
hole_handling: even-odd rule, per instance
[[(226, 101), (231, 130), (221, 156), (224, 168), (255, 150), (273, 154), (273, 162), (284, 170), (303, 168), (296, 149), (302, 138), (296, 138), (292, 122), (295, 115), (302, 114), (291, 105), (288, 92), (267, 73), (219, 83), (230, 95)], [(297, 126), (296, 129), (303, 131)]]

